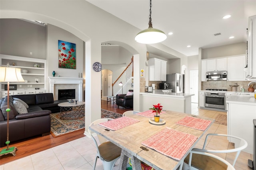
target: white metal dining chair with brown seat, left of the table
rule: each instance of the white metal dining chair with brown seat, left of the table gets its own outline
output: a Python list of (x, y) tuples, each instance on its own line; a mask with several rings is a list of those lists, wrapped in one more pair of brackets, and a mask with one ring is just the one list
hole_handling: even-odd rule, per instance
[[(106, 121), (109, 121), (109, 120), (112, 120), (112, 119), (109, 119), (109, 118), (98, 119), (96, 121), (93, 121), (90, 124), (90, 126), (97, 125), (99, 123), (103, 123), (103, 122), (106, 122)], [(97, 154), (96, 154), (93, 170), (95, 170), (98, 158), (100, 158), (100, 160), (102, 160), (104, 170), (112, 170), (116, 161), (120, 158), (121, 148), (114, 145), (110, 141), (107, 141), (106, 138), (104, 138), (100, 135), (97, 135), (99, 143), (100, 143), (98, 145), (98, 143), (97, 143), (97, 141), (96, 141), (96, 139), (93, 135), (93, 132), (90, 129), (88, 129), (88, 132), (91, 135), (91, 137), (92, 137), (92, 139), (93, 139), (93, 141), (96, 145), (96, 149), (97, 149)]]

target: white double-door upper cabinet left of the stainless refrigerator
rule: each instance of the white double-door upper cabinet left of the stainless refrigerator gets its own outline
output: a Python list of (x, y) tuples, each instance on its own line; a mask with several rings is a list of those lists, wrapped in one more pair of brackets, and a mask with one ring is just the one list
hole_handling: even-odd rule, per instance
[(167, 61), (151, 58), (148, 60), (149, 81), (166, 81)]

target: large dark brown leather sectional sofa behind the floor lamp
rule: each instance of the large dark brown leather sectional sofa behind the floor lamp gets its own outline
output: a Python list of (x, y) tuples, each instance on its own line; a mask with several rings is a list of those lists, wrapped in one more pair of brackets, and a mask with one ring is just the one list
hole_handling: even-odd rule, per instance
[[(28, 104), (28, 113), (18, 114), (13, 98), (19, 98)], [(36, 135), (50, 134), (50, 113), (59, 112), (58, 104), (67, 100), (53, 100), (52, 93), (9, 96), (9, 140), (11, 142)], [(7, 138), (7, 96), (0, 99), (0, 147), (4, 147)]]

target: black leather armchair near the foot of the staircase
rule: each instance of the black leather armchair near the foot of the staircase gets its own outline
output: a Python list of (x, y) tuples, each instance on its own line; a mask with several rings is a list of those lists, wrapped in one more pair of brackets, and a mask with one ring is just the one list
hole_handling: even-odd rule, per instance
[[(129, 92), (133, 92), (133, 90), (129, 90)], [(126, 96), (126, 94), (117, 94), (116, 95), (116, 105), (122, 106), (124, 108), (131, 107), (133, 108), (133, 95)]]

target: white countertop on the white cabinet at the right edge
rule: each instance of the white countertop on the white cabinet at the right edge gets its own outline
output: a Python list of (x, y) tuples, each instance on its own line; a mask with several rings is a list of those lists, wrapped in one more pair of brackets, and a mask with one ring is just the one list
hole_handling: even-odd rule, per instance
[(256, 99), (254, 98), (254, 93), (250, 93), (250, 95), (242, 95), (241, 93), (240, 95), (230, 96), (230, 98), (226, 99), (226, 103), (256, 105)]

